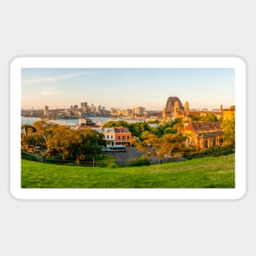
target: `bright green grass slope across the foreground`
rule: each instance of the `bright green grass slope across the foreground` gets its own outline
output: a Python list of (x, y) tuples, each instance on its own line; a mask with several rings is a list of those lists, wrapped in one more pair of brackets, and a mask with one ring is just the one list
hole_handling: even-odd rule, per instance
[(233, 188), (235, 155), (141, 167), (92, 168), (21, 160), (23, 188)]

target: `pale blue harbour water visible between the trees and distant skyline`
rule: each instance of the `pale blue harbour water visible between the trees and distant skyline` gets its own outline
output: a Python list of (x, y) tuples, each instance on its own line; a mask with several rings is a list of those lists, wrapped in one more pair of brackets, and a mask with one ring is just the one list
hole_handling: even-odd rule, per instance
[[(122, 118), (108, 118), (108, 117), (90, 117), (92, 122), (97, 124), (106, 124), (109, 121), (119, 121), (124, 120), (128, 123), (135, 123), (135, 122), (143, 122), (143, 119), (122, 119)], [(29, 124), (32, 125), (34, 122), (40, 120), (40, 118), (35, 117), (21, 117), (21, 124)], [(79, 124), (79, 119), (56, 119), (59, 124), (68, 124), (68, 125), (77, 125)]]

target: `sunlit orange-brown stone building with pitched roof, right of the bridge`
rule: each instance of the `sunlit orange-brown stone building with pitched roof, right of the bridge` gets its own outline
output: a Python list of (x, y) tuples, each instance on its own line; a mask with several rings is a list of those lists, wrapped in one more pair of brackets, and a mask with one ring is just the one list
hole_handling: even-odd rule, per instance
[(223, 142), (223, 132), (219, 122), (189, 123), (183, 134), (187, 137), (186, 146), (200, 149), (221, 146)]

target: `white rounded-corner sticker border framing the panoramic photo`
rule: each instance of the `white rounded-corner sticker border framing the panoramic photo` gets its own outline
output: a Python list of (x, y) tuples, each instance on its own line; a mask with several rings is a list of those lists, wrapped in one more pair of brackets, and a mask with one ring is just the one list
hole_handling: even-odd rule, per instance
[[(20, 187), (22, 68), (236, 69), (236, 187), (232, 189), (29, 189)], [(10, 68), (10, 191), (24, 200), (227, 200), (246, 191), (246, 65), (239, 57), (18, 57)]]

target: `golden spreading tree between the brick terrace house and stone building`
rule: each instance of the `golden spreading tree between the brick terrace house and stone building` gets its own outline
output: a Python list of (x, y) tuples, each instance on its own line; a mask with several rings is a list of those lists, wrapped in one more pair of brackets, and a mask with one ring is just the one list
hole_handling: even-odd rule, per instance
[(164, 157), (170, 157), (174, 149), (181, 149), (183, 141), (186, 137), (181, 133), (167, 133), (163, 137), (158, 137), (150, 132), (143, 132), (141, 140), (136, 137), (132, 138), (132, 143), (137, 149), (144, 152), (148, 157), (154, 156), (159, 160), (159, 164), (163, 163)]

